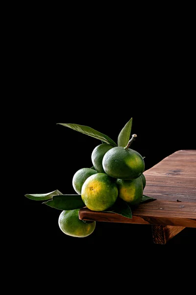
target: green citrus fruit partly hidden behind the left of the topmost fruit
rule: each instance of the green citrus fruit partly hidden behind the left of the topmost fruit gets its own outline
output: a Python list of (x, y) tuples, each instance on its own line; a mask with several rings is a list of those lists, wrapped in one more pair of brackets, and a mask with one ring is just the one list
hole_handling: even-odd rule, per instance
[(113, 146), (108, 144), (101, 144), (97, 146), (96, 148), (94, 148), (91, 155), (91, 159), (92, 159), (93, 166), (95, 167), (95, 170), (98, 173), (104, 173), (103, 166), (102, 166), (103, 156), (111, 148), (113, 148)]

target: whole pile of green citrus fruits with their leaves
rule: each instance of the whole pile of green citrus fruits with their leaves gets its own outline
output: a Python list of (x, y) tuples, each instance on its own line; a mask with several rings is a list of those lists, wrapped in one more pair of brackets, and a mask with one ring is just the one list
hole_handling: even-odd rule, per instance
[[(102, 141), (92, 152), (92, 168), (82, 168), (73, 176), (73, 188), (78, 195), (63, 195), (58, 190), (41, 195), (25, 195), (32, 200), (49, 200), (46, 205), (63, 210), (59, 216), (60, 229), (69, 236), (85, 237), (95, 230), (95, 221), (79, 220), (82, 207), (93, 211), (116, 212), (132, 218), (131, 206), (146, 201), (143, 196), (146, 178), (144, 159), (129, 148), (132, 118), (123, 127), (117, 144), (108, 136), (87, 126), (61, 124)], [(144, 198), (144, 199), (143, 199)]]

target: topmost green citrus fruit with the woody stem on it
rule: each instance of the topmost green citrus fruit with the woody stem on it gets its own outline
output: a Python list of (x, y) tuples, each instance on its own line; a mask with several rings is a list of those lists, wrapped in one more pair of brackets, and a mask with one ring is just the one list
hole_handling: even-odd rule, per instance
[(107, 175), (121, 179), (138, 178), (145, 169), (141, 154), (123, 147), (108, 150), (103, 157), (102, 165)]

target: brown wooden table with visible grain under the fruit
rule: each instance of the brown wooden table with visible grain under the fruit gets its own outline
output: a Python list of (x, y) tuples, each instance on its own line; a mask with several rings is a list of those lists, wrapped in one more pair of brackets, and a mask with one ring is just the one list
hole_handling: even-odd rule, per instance
[(151, 224), (155, 243), (165, 244), (185, 227), (196, 228), (196, 150), (178, 150), (144, 173), (144, 194), (156, 198), (132, 211), (129, 219), (115, 213), (79, 211), (79, 218)]

